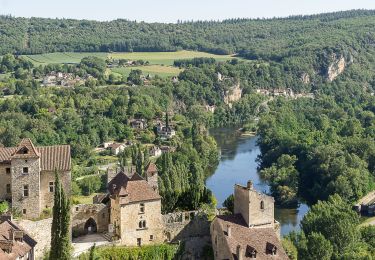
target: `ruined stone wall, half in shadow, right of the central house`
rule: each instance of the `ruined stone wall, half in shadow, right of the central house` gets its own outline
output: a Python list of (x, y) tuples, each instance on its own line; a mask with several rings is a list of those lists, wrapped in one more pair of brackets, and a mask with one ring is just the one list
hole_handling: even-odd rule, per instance
[(210, 235), (210, 222), (198, 211), (174, 212), (163, 215), (166, 241), (186, 240)]

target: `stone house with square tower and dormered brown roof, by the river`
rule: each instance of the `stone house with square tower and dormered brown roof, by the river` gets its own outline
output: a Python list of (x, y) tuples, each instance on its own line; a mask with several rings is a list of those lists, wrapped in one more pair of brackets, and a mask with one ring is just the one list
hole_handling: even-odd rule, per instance
[(235, 186), (234, 214), (217, 216), (210, 229), (215, 259), (288, 259), (274, 220), (274, 199), (251, 182)]

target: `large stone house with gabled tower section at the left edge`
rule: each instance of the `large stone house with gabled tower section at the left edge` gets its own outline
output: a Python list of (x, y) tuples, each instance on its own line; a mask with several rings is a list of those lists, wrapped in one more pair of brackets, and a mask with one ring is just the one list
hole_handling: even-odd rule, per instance
[(35, 147), (23, 139), (17, 147), (0, 148), (0, 200), (11, 202), (24, 218), (38, 218), (53, 206), (55, 170), (70, 196), (70, 146)]

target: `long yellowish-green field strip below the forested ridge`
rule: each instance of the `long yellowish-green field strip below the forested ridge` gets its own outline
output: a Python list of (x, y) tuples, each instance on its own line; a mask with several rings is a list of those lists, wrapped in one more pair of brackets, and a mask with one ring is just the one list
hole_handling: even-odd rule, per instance
[(217, 61), (226, 61), (232, 59), (233, 55), (215, 55), (207, 52), (199, 51), (177, 51), (177, 52), (119, 52), (110, 53), (109, 57), (115, 59), (128, 59), (128, 60), (145, 60), (150, 64), (164, 64), (173, 65), (174, 60), (179, 59), (192, 59), (199, 57), (214, 58)]

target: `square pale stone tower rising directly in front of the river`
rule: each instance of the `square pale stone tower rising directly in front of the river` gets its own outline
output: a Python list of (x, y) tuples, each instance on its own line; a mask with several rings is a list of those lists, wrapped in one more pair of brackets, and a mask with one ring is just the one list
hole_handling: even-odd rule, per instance
[(248, 227), (274, 227), (274, 199), (257, 192), (251, 181), (234, 189), (234, 214), (241, 214)]

